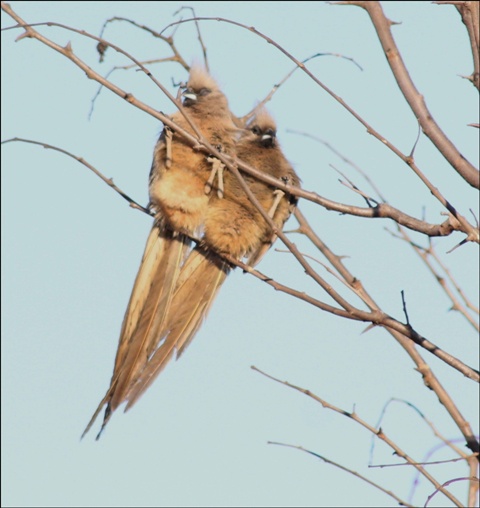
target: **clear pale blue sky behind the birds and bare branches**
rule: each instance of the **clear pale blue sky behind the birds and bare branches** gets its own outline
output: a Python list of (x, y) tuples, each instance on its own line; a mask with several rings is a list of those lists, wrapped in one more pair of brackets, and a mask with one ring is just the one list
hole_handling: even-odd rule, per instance
[[(161, 29), (183, 2), (11, 2), (26, 21), (56, 21), (98, 35), (102, 23), (123, 16)], [(334, 52), (308, 66), (383, 136), (409, 153), (417, 136), (414, 115), (396, 88), (364, 11), (323, 2), (189, 2), (199, 16), (254, 26), (299, 59)], [(446, 134), (478, 165), (478, 93), (459, 75), (472, 70), (466, 31), (453, 7), (428, 2), (383, 2), (401, 22), (393, 33), (412, 79)], [(2, 13), (2, 26), (12, 25)], [(102, 74), (125, 59), (113, 51), (99, 64), (94, 43), (56, 28), (40, 29)], [(218, 22), (201, 24), (213, 75), (241, 115), (293, 67), (251, 32)], [(2, 140), (44, 141), (83, 156), (145, 204), (154, 143), (162, 126), (98, 85), (70, 61), (23, 39), (2, 34)], [(110, 40), (138, 59), (161, 58), (161, 41), (126, 24), (111, 25)], [(187, 61), (201, 59), (193, 24), (176, 34)], [(185, 73), (175, 64), (149, 66), (172, 92)], [(166, 113), (168, 99), (143, 74), (117, 71), (111, 79)], [(398, 158), (369, 136), (312, 80), (297, 72), (269, 109), (279, 139), (306, 189), (364, 206), (338, 182), (329, 164), (370, 189), (323, 145), (288, 132), (325, 139), (359, 165), (390, 203), (431, 222), (444, 211)], [(478, 196), (421, 137), (419, 167), (462, 214), (478, 217)], [(382, 308), (409, 317), (423, 335), (475, 365), (477, 337), (412, 250), (385, 232), (391, 222), (327, 212), (301, 203), (322, 239), (362, 280)], [(99, 442), (79, 437), (108, 387), (118, 333), (151, 221), (128, 207), (86, 168), (40, 147), (2, 147), (2, 504), (3, 506), (395, 506), (393, 499), (300, 451), (301, 445), (366, 474), (408, 499), (409, 467), (369, 469), (370, 435), (304, 395), (253, 372), (250, 365), (308, 388), (371, 424), (390, 397), (406, 399), (446, 437), (460, 437), (414, 366), (382, 330), (362, 334), (348, 322), (275, 292), (235, 271), (207, 321), (180, 361), (172, 363), (127, 414), (117, 412)], [(287, 229), (295, 227), (289, 222)], [(425, 245), (425, 239), (414, 236)], [(297, 236), (301, 250), (320, 255)], [(434, 240), (437, 252), (478, 305), (478, 246), (446, 252), (461, 240)], [(277, 247), (281, 247), (277, 245)], [(259, 269), (324, 298), (290, 256), (270, 252)], [(349, 293), (327, 272), (322, 276)], [(329, 298), (326, 301), (330, 302)], [(478, 432), (478, 386), (424, 354), (460, 411)], [(382, 427), (414, 459), (438, 444), (406, 406), (391, 406)], [(462, 445), (462, 444), (461, 444)], [(451, 458), (442, 451), (434, 459)], [(397, 463), (382, 443), (374, 464)], [(440, 481), (466, 476), (463, 465), (432, 466)], [(413, 503), (433, 487), (421, 480)], [(452, 486), (466, 501), (466, 484)], [(431, 506), (445, 506), (441, 495)]]

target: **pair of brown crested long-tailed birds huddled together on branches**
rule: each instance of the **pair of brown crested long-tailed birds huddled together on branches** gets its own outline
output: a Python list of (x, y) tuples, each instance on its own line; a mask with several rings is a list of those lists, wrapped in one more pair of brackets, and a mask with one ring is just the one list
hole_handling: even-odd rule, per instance
[[(291, 185), (299, 178), (283, 155), (271, 116), (261, 109), (238, 126), (218, 84), (192, 67), (183, 107), (205, 139), (232, 160), (241, 160)], [(194, 131), (181, 112), (172, 120)], [(257, 264), (275, 234), (241, 184), (217, 158), (207, 157), (178, 133), (165, 128), (150, 171), (150, 209), (155, 220), (123, 320), (110, 387), (83, 435), (106, 405), (100, 437), (113, 412), (128, 410), (168, 361), (193, 339), (232, 266), (228, 254)], [(275, 227), (282, 229), (296, 200), (244, 175)], [(191, 236), (201, 242), (191, 247)], [(82, 436), (83, 437), (83, 436)]]

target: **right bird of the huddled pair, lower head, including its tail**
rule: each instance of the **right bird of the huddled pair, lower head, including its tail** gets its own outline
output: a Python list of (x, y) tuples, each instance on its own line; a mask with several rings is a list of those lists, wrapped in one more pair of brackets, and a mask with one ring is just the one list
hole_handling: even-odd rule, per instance
[[(277, 142), (275, 123), (263, 109), (240, 137), (236, 156), (286, 183), (299, 185), (298, 176)], [(252, 176), (245, 175), (244, 179), (275, 227), (282, 229), (296, 199)], [(224, 175), (223, 197), (213, 193), (205, 214), (204, 228), (202, 244), (191, 251), (182, 265), (166, 318), (162, 344), (132, 386), (129, 405), (150, 386), (173, 353), (176, 352), (178, 358), (194, 338), (232, 269), (221, 254), (237, 259), (246, 256), (253, 266), (275, 241), (269, 224), (247, 197), (237, 178), (228, 171)]]

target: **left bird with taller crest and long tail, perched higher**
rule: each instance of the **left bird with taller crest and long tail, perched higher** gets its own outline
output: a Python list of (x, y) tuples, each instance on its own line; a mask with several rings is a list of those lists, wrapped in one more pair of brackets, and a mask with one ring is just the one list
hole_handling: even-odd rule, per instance
[[(183, 108), (201, 135), (222, 152), (233, 154), (239, 129), (215, 80), (203, 68), (192, 67), (182, 95)], [(180, 111), (171, 118), (195, 134)], [(160, 135), (149, 180), (149, 208), (155, 221), (125, 312), (110, 387), (83, 435), (105, 405), (97, 439), (120, 404), (127, 401), (126, 409), (133, 404), (132, 387), (143, 376), (162, 339), (180, 267), (190, 248), (188, 235), (199, 234), (203, 228), (212, 198), (205, 189), (207, 182), (214, 185), (211, 175), (219, 169), (217, 162), (193, 150), (167, 127)]]

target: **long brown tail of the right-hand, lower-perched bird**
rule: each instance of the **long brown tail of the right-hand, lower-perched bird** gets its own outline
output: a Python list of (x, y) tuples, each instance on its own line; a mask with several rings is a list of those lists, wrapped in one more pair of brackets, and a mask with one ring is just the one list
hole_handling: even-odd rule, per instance
[(229, 265), (212, 252), (195, 248), (180, 272), (169, 309), (164, 341), (152, 355), (126, 398), (130, 409), (160, 374), (173, 354), (177, 358), (200, 328), (230, 271)]

